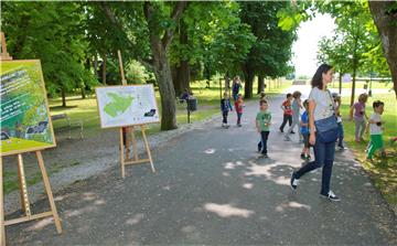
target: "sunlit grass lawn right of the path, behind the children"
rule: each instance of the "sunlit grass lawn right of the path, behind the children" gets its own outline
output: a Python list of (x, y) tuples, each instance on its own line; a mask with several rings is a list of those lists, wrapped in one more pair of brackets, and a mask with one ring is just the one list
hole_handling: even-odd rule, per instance
[[(373, 162), (365, 161), (365, 143), (356, 143), (354, 141), (354, 122), (348, 121), (348, 103), (350, 97), (342, 98), (342, 115), (344, 116), (345, 141), (356, 154), (357, 160), (362, 163), (369, 177), (374, 180), (375, 185), (380, 190), (384, 197), (391, 206), (397, 205), (397, 142), (391, 146), (390, 137), (397, 137), (397, 101), (394, 93), (377, 94), (371, 97), (366, 104), (366, 114), (368, 117), (373, 113), (372, 103), (374, 100), (385, 103), (385, 111), (382, 119), (386, 121), (384, 130), (384, 145), (386, 147), (387, 158), (376, 156)], [(366, 140), (369, 135), (365, 135)]]

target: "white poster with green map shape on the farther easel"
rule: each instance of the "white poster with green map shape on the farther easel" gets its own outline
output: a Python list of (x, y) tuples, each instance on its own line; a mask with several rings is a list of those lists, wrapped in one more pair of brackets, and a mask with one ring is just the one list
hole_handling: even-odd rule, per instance
[(152, 85), (108, 86), (95, 90), (101, 128), (159, 122)]

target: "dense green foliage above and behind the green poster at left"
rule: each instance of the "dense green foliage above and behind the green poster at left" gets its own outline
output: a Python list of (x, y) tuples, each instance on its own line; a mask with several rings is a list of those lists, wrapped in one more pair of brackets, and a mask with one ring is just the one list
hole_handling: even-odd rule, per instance
[(95, 84), (83, 61), (88, 43), (77, 29), (84, 19), (76, 3), (4, 2), (2, 28), (14, 58), (40, 58), (50, 94)]

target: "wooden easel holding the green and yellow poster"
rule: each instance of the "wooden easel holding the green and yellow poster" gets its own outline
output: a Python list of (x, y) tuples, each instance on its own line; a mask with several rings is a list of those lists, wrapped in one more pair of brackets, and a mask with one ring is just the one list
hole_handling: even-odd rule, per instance
[[(1, 32), (0, 61), (11, 61), (11, 60), (12, 60), (12, 56), (10, 56), (7, 53), (4, 33)], [(45, 192), (46, 192), (49, 201), (50, 201), (51, 211), (40, 213), (40, 214), (31, 213), (29, 196), (28, 196), (26, 179), (25, 179), (24, 169), (23, 169), (23, 158), (22, 158), (22, 153), (17, 153), (17, 156), (18, 156), (18, 178), (19, 178), (20, 193), (21, 193), (21, 206), (22, 206), (22, 211), (25, 213), (25, 216), (19, 217), (19, 218), (13, 218), (10, 221), (4, 221), (3, 179), (2, 179), (3, 171), (2, 171), (2, 156), (1, 156), (0, 157), (0, 245), (1, 246), (6, 246), (6, 229), (4, 229), (4, 227), (7, 225), (13, 225), (13, 224), (18, 224), (18, 223), (29, 222), (29, 221), (33, 221), (33, 220), (37, 220), (37, 218), (42, 218), (42, 217), (53, 216), (54, 222), (55, 222), (56, 232), (58, 234), (62, 233), (60, 217), (58, 217), (58, 214), (56, 211), (54, 197), (52, 194), (52, 190), (51, 190), (51, 185), (50, 185), (49, 177), (47, 177), (47, 173), (45, 170), (44, 160), (43, 160), (41, 150), (35, 150), (35, 154), (36, 154), (36, 158), (39, 161), (39, 167), (40, 167), (40, 170), (41, 170), (41, 173), (43, 177), (44, 189), (45, 189)]]

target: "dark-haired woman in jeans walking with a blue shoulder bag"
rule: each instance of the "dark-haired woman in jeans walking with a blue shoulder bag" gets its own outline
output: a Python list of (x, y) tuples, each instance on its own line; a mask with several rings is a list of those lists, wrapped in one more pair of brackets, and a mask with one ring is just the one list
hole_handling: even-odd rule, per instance
[(292, 190), (297, 190), (301, 177), (322, 167), (320, 195), (331, 201), (340, 201), (330, 190), (337, 138), (334, 101), (330, 90), (326, 89), (326, 85), (332, 81), (332, 66), (322, 64), (312, 78), (312, 90), (309, 95), (309, 141), (314, 146), (314, 160), (292, 172), (290, 185)]

